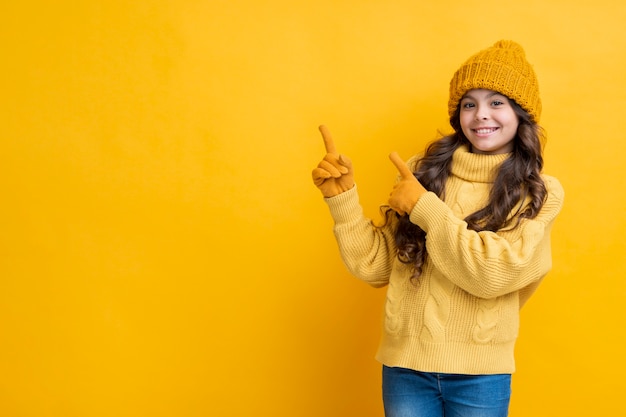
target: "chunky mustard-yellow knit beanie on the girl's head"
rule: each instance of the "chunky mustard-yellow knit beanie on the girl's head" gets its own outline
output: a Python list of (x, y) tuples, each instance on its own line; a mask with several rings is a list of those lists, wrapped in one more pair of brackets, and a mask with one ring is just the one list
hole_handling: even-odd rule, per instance
[(524, 49), (513, 41), (501, 40), (469, 58), (450, 81), (448, 114), (454, 115), (463, 95), (484, 88), (515, 100), (535, 120), (541, 116), (539, 83)]

